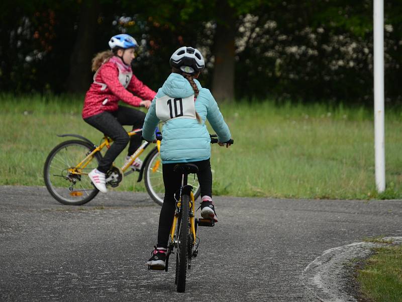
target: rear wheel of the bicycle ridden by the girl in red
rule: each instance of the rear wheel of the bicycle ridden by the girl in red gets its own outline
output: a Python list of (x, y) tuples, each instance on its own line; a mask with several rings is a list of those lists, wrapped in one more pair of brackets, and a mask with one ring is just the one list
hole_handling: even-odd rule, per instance
[[(67, 154), (67, 149), (69, 146), (77, 146), (76, 150), (72, 150), (70, 154)], [(96, 194), (99, 192), (90, 182), (89, 178), (86, 175), (83, 175), (81, 183), (81, 175), (75, 177), (75, 183), (72, 185), (72, 181), (67, 180), (67, 177), (63, 176), (63, 173), (67, 173), (67, 169), (70, 168), (70, 163), (73, 165), (78, 164), (81, 160), (83, 160), (88, 152), (93, 149), (93, 146), (90, 143), (87, 143), (82, 140), (66, 140), (62, 143), (56, 145), (48, 157), (46, 158), (45, 165), (43, 168), (43, 178), (45, 181), (45, 185), (50, 195), (58, 202), (66, 205), (81, 205), (87, 203), (92, 200)], [(62, 156), (62, 150), (64, 150), (64, 156)], [(75, 153), (75, 154), (74, 154)], [(61, 157), (61, 160), (58, 160), (57, 164), (52, 167), (52, 163), (57, 157)], [(93, 163), (90, 167), (86, 168), (85, 171), (90, 171), (93, 168), (96, 168), (99, 164), (99, 161), (102, 160), (102, 155), (99, 152), (94, 154), (95, 161), (91, 161)], [(55, 162), (56, 163), (56, 162)], [(57, 168), (55, 166), (58, 166)], [(61, 167), (61, 168), (60, 168)], [(54, 175), (52, 171), (60, 170), (61, 175)], [(58, 178), (56, 178), (56, 176)], [(65, 181), (65, 182), (64, 182)], [(82, 189), (76, 191), (70, 191), (69, 188), (79, 184)], [(69, 186), (66, 189), (65, 186)], [(75, 192), (75, 193), (74, 193)], [(80, 192), (80, 193), (79, 193)], [(84, 193), (82, 193), (84, 192)], [(72, 194), (74, 193), (74, 194)], [(81, 195), (79, 195), (81, 194)]]

